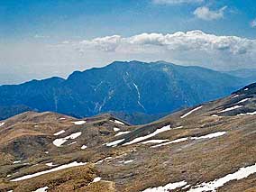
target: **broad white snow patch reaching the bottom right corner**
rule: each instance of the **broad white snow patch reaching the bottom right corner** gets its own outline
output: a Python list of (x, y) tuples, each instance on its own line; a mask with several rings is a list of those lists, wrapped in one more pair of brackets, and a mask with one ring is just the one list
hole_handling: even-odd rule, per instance
[(208, 183), (202, 183), (188, 190), (188, 192), (203, 192), (203, 191), (216, 191), (218, 187), (224, 186), (225, 183), (232, 180), (240, 180), (242, 178), (247, 178), (251, 174), (256, 173), (256, 163), (254, 165), (241, 168), (238, 171), (228, 174), (223, 178), (217, 178), (214, 181)]

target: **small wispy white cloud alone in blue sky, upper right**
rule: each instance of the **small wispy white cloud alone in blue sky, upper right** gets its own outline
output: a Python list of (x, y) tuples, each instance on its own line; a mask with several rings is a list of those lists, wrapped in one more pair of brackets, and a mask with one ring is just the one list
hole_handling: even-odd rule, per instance
[(224, 11), (227, 6), (224, 6), (218, 10), (210, 10), (207, 6), (198, 7), (193, 14), (197, 16), (197, 18), (211, 21), (224, 18)]

